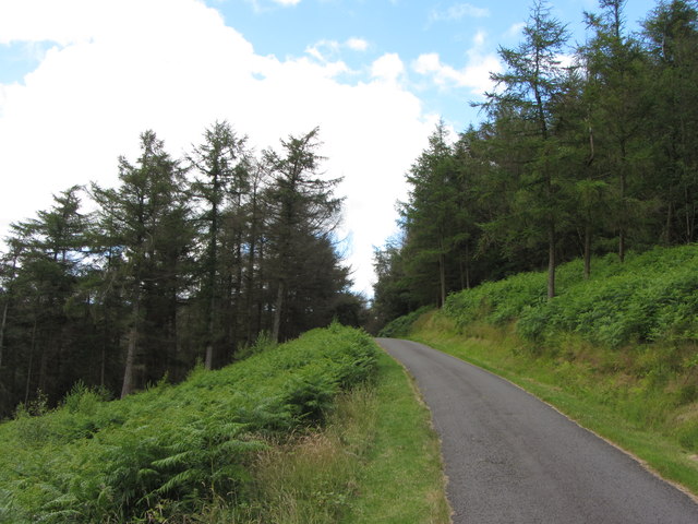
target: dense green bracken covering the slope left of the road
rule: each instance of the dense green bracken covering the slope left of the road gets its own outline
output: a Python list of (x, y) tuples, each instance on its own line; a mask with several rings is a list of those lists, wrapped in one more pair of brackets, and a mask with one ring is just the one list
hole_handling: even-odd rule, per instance
[(372, 376), (375, 352), (365, 333), (332, 325), (177, 386), (104, 402), (77, 385), (58, 409), (21, 410), (0, 425), (0, 522), (166, 522), (220, 498), (244, 503), (254, 454), (323, 425)]

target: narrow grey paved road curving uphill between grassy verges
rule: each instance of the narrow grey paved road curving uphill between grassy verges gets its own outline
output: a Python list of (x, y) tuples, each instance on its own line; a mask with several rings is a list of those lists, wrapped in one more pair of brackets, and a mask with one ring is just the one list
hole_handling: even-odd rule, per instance
[(698, 504), (509, 382), (421, 344), (378, 344), (442, 439), (454, 524), (698, 524)]

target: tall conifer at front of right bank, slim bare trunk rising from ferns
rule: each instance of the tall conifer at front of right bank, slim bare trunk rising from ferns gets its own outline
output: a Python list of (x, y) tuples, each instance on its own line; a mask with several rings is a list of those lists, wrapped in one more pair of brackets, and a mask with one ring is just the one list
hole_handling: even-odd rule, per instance
[[(537, 0), (516, 49), (500, 48), (507, 70), (492, 74), (502, 91), (488, 93), (484, 107), (510, 127), (522, 153), (520, 183), (514, 195), (518, 219), (530, 224), (547, 240), (547, 296), (555, 296), (557, 234), (564, 205), (552, 129), (554, 102), (563, 92), (564, 68), (559, 55), (567, 43), (565, 26), (552, 17), (544, 0)], [(509, 224), (514, 226), (514, 224)]]

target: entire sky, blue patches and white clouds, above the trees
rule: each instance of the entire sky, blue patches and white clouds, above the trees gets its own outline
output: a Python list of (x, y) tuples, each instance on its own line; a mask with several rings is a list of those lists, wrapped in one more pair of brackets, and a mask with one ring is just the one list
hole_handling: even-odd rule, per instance
[[(654, 7), (628, 0), (628, 29)], [(595, 0), (554, 0), (570, 43)], [(0, 238), (74, 184), (116, 187), (154, 130), (174, 157), (216, 120), (255, 151), (320, 127), (342, 177), (341, 250), (372, 295), (405, 174), (442, 118), (453, 136), (503, 71), (520, 0), (0, 0)], [(0, 248), (1, 249), (1, 248)]]

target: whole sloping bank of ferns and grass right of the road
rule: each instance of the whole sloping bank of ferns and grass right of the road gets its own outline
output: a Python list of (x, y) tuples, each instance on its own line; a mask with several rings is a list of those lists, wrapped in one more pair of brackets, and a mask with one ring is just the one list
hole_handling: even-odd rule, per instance
[(558, 290), (545, 298), (543, 273), (488, 283), (407, 333), (513, 380), (698, 493), (698, 246), (605, 257), (589, 281), (573, 262)]

